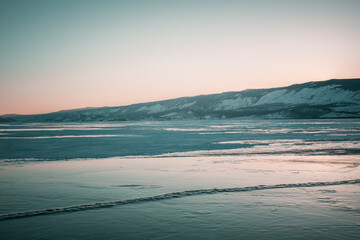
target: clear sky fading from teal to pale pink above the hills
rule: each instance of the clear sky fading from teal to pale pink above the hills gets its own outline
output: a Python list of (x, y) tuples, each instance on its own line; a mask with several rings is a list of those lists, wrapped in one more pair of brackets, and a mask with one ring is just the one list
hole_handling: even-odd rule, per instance
[(360, 0), (0, 0), (0, 114), (360, 77)]

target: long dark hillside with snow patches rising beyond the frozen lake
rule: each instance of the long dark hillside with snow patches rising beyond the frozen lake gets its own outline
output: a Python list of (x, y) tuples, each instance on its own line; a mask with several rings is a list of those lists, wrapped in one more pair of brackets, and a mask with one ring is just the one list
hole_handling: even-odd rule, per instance
[(360, 79), (332, 79), (283, 88), (252, 89), (120, 107), (4, 115), (2, 122), (129, 121), (228, 118), (360, 117)]

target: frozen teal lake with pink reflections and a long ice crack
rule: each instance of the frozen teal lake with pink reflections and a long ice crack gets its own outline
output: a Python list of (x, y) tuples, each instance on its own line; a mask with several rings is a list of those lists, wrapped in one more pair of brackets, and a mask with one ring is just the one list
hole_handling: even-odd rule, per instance
[(360, 120), (0, 125), (4, 239), (358, 239)]

